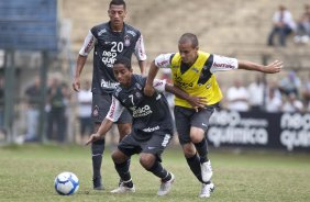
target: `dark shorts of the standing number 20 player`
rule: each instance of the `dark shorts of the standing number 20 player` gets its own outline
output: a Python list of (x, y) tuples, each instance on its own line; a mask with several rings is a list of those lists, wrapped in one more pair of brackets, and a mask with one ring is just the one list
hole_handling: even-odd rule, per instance
[[(95, 123), (101, 123), (107, 116), (112, 103), (112, 94), (92, 93), (91, 117)], [(132, 116), (126, 109), (117, 123), (132, 123)]]

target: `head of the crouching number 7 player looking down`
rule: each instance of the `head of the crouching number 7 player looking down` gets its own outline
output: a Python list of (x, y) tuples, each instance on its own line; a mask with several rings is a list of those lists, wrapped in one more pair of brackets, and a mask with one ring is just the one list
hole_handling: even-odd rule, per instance
[(129, 87), (131, 85), (132, 69), (128, 69), (123, 64), (115, 64), (113, 72), (121, 86)]

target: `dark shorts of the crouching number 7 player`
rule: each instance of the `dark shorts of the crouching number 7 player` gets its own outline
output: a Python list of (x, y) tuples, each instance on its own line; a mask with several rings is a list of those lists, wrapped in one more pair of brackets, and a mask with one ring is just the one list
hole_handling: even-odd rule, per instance
[(147, 153), (155, 155), (160, 160), (162, 153), (173, 138), (173, 134), (155, 131), (152, 133), (150, 139), (136, 141), (133, 133), (134, 132), (126, 135), (118, 146), (118, 148), (129, 157), (134, 154)]

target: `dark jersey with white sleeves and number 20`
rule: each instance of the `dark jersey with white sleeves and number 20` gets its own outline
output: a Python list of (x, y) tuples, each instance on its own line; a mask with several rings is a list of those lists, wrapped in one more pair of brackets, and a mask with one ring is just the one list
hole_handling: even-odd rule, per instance
[(113, 32), (109, 22), (93, 26), (79, 50), (82, 56), (93, 49), (92, 92), (111, 93), (119, 85), (113, 75), (113, 64), (118, 56), (131, 60), (134, 54), (137, 60), (145, 60), (143, 36), (139, 30), (124, 23), (122, 32)]

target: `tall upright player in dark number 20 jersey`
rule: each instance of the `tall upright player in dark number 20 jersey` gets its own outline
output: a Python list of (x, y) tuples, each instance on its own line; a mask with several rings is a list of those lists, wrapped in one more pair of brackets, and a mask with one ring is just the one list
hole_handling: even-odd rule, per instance
[[(73, 82), (74, 90), (79, 91), (82, 68), (88, 54), (95, 47), (91, 87), (91, 115), (95, 122), (95, 131), (99, 128), (101, 121), (107, 115), (111, 103), (111, 94), (119, 85), (112, 70), (117, 56), (131, 59), (134, 54), (139, 60), (141, 74), (144, 74), (146, 66), (146, 55), (141, 32), (124, 23), (124, 18), (126, 16), (125, 2), (123, 0), (112, 0), (108, 14), (110, 18), (109, 22), (96, 25), (88, 32), (79, 50)], [(131, 115), (128, 111), (123, 111), (117, 124), (120, 139), (122, 139), (131, 131)], [(103, 150), (104, 138), (92, 143), (92, 182), (96, 190), (103, 190), (100, 172)]]

